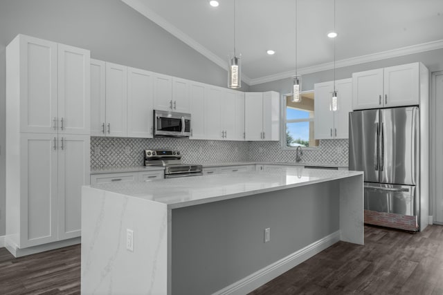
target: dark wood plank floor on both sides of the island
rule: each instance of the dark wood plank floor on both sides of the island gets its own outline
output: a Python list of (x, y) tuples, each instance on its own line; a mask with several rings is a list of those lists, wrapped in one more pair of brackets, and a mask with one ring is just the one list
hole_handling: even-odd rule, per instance
[[(80, 245), (22, 258), (0, 248), (0, 294), (80, 294)], [(443, 294), (443, 226), (365, 227), (364, 246), (338, 242), (250, 293), (262, 294)]]

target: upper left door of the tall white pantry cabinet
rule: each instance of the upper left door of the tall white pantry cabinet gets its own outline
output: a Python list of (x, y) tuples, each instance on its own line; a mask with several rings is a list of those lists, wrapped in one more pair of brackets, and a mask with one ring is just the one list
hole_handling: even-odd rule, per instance
[(19, 75), (20, 131), (57, 133), (57, 44), (24, 35), (17, 41), (11, 61)]

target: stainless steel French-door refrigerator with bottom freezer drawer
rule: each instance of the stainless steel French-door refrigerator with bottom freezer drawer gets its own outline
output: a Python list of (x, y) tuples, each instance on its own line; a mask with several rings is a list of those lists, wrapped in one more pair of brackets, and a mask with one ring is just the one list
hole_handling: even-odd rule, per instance
[(364, 171), (365, 223), (419, 230), (419, 108), (353, 111), (349, 169)]

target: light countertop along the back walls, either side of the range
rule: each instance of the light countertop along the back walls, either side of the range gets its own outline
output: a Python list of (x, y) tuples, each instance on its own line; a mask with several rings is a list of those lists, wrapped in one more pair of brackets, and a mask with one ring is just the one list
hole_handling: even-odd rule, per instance
[[(195, 163), (192, 163), (195, 164)], [(334, 163), (296, 163), (296, 162), (253, 162), (253, 161), (243, 161), (243, 162), (203, 162), (200, 163), (203, 168), (210, 167), (221, 167), (221, 166), (240, 166), (240, 165), (284, 165), (284, 166), (318, 166), (318, 167), (338, 167), (347, 168), (344, 165), (338, 165)], [(123, 173), (123, 172), (140, 172), (140, 171), (156, 171), (164, 170), (165, 167), (159, 166), (129, 166), (120, 168), (104, 168), (104, 169), (93, 169), (91, 174), (101, 174), (101, 173)]]

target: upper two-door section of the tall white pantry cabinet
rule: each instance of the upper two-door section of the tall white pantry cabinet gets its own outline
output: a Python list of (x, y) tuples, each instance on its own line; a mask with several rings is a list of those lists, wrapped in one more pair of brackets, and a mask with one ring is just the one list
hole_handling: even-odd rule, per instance
[(89, 50), (19, 35), (8, 64), (21, 132), (89, 134)]

